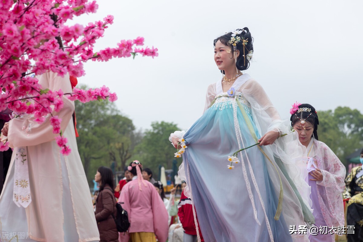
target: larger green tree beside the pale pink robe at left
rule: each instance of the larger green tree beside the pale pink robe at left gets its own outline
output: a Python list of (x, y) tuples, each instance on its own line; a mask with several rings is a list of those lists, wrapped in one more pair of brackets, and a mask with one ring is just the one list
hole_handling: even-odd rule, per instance
[(91, 184), (101, 165), (110, 167), (114, 163), (115, 171), (122, 169), (140, 139), (135, 138), (138, 136), (134, 135), (132, 120), (121, 115), (114, 103), (76, 101), (75, 106), (78, 151)]

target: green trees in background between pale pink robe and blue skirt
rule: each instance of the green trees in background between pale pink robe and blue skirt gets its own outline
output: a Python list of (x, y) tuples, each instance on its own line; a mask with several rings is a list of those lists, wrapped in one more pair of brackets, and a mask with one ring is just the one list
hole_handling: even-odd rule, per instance
[[(87, 89), (86, 86), (80, 88)], [(78, 151), (90, 186), (100, 166), (123, 171), (132, 160), (139, 160), (155, 177), (159, 165), (171, 169), (176, 151), (168, 137), (180, 130), (176, 124), (153, 122), (150, 130), (136, 130), (132, 120), (122, 115), (114, 103), (103, 100), (76, 101), (75, 110)], [(178, 159), (178, 166), (180, 164), (181, 159)]]

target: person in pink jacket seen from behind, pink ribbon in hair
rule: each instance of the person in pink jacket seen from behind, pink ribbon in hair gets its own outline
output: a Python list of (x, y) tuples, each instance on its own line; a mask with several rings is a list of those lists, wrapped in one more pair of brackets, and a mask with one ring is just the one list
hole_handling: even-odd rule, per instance
[(142, 164), (135, 160), (128, 167), (131, 181), (122, 188), (119, 202), (129, 215), (129, 233), (120, 233), (120, 242), (165, 242), (168, 238), (168, 212), (154, 185), (143, 179)]

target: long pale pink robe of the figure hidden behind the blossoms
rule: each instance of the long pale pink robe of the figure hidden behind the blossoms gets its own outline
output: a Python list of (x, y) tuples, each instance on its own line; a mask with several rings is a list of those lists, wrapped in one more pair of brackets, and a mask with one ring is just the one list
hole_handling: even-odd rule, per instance
[[(72, 92), (69, 74), (60, 77), (50, 72), (37, 78), (43, 89)], [(63, 102), (61, 111), (53, 115), (62, 119), (61, 130), (72, 149), (68, 156), (60, 153), (50, 115), (42, 124), (34, 122), (33, 115), (9, 122), (10, 146), (27, 148), (32, 202), (24, 209), (12, 201), (14, 152), (0, 196), (0, 230), (29, 233), (30, 239), (24, 241), (99, 241), (90, 190), (74, 132), (74, 102), (66, 97), (63, 97)]]

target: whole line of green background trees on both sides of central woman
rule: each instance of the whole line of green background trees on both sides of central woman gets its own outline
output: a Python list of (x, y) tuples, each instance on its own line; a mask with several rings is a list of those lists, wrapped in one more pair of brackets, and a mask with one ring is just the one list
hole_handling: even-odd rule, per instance
[[(123, 171), (132, 160), (139, 160), (144, 168), (154, 172), (155, 177), (159, 165), (172, 168), (175, 149), (168, 137), (180, 130), (176, 124), (153, 122), (150, 130), (136, 130), (132, 120), (122, 115), (114, 103), (76, 101), (75, 104), (78, 150), (90, 185), (101, 165)], [(319, 140), (346, 165), (345, 157), (363, 147), (363, 115), (356, 109), (337, 107), (334, 111), (318, 111), (318, 116)], [(177, 161), (179, 166), (181, 159)]]

